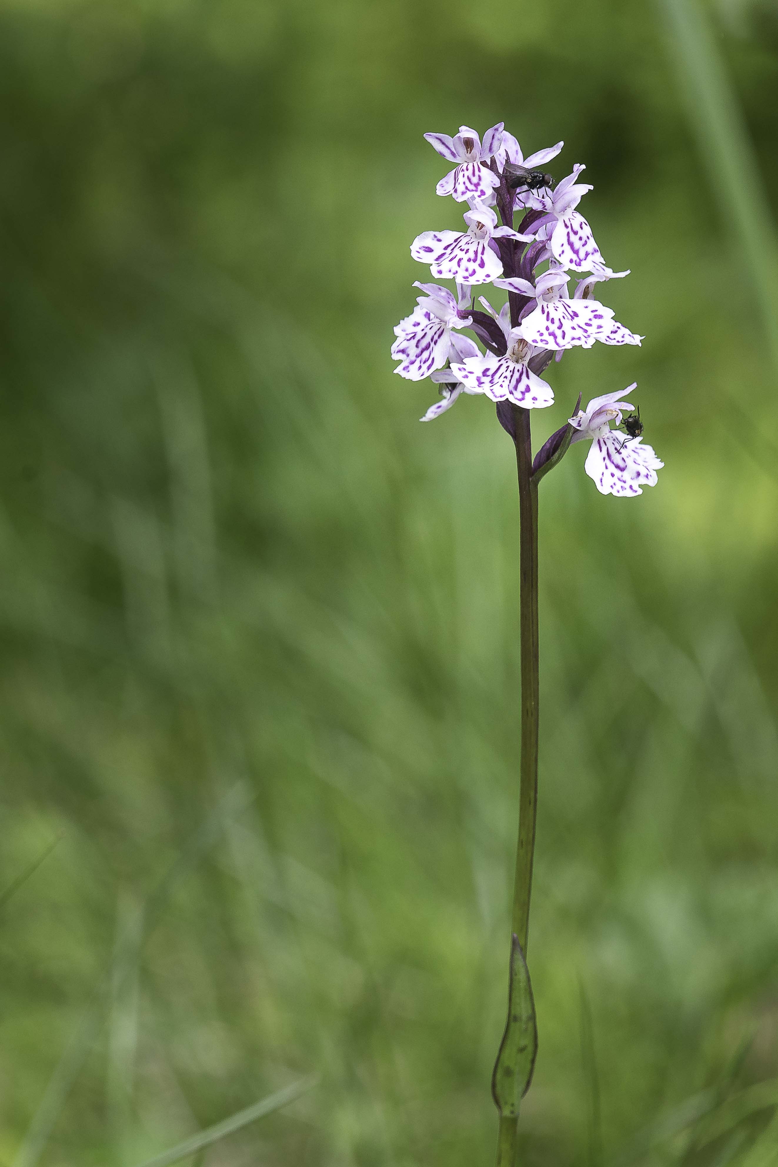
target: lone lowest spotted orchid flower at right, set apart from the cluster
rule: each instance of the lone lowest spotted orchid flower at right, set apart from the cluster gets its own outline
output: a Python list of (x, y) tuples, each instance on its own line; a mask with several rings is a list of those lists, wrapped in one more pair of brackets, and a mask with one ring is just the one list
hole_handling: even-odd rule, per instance
[(617, 426), (622, 424), (624, 410), (635, 408), (630, 401), (623, 400), (635, 387), (633, 383), (623, 391), (595, 397), (569, 421), (576, 431), (573, 442), (591, 440), (584, 469), (601, 495), (642, 495), (643, 487), (656, 487), (657, 470), (665, 464), (657, 457), (653, 447), (644, 446), (640, 438), (630, 438), (610, 428), (611, 421)]

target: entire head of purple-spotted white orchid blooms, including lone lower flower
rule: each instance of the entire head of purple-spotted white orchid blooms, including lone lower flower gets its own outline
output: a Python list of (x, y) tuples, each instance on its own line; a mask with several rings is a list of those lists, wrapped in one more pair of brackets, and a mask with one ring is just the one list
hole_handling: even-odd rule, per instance
[[(428, 265), (436, 280), (456, 285), (455, 295), (440, 284), (416, 282), (423, 295), (394, 329), (392, 356), (400, 362), (394, 371), (408, 380), (430, 377), (440, 387), (440, 399), (422, 421), (444, 413), (462, 393), (482, 393), (525, 410), (546, 408), (554, 394), (542, 373), (567, 349), (589, 349), (597, 341), (640, 343), (643, 337), (593, 295), (597, 284), (629, 272), (607, 266), (577, 210), (591, 190), (589, 183), (579, 182), (584, 167), (574, 166), (556, 184), (538, 169), (559, 154), (562, 142), (525, 159), (503, 123), (488, 130), (483, 140), (469, 126), (461, 126), (454, 138), (425, 138), (454, 163), (437, 183), (437, 194), (453, 195), (468, 210), (464, 231), (423, 231), (411, 244), (413, 258)], [(517, 212), (521, 219), (514, 230)], [(575, 280), (572, 293), (570, 280)], [(474, 288), (479, 293), (488, 284), (507, 292), (499, 310), (481, 294), (481, 308), (474, 307)], [(463, 329), (470, 329), (486, 351)], [(642, 442), (639, 413), (624, 415), (633, 406), (623, 396), (605, 393), (570, 418), (565, 448), (591, 439), (587, 474), (602, 494), (629, 496), (654, 485), (663, 463)], [(611, 429), (611, 422), (623, 432)]]

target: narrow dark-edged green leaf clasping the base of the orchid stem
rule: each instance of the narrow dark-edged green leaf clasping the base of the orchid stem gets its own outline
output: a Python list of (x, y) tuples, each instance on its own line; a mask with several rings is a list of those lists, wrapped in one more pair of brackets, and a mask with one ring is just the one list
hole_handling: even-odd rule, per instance
[(513, 935), (507, 994), (507, 1021), (492, 1074), (492, 1098), (504, 1118), (518, 1118), (532, 1082), (538, 1054), (535, 1002), (530, 970), (519, 937)]

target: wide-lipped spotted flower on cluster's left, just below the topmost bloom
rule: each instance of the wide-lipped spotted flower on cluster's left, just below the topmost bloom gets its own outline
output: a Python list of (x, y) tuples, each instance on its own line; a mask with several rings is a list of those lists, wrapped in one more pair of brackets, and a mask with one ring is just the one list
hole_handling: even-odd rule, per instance
[(530, 242), (507, 226), (497, 226), (491, 207), (476, 204), (463, 216), (467, 231), (422, 231), (411, 244), (411, 254), (420, 264), (429, 264), (439, 280), (458, 284), (489, 284), (503, 274), (503, 261), (492, 239)]

